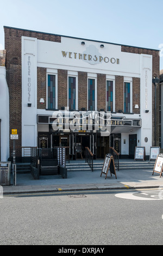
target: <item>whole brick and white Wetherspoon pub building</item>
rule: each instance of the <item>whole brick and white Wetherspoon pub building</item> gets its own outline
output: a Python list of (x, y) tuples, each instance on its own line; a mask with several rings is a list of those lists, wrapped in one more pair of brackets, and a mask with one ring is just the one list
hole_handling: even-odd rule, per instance
[[(152, 77), (159, 77), (158, 50), (12, 27), (4, 27), (4, 35), (16, 147), (68, 146), (74, 159), (79, 144), (83, 156), (89, 147), (102, 158), (109, 147), (133, 157), (135, 146), (146, 147), (149, 155), (150, 147), (159, 145), (159, 125), (154, 125), (155, 120), (159, 124), (159, 100), (155, 117), (152, 83)], [(69, 111), (62, 112), (65, 107)], [(70, 122), (74, 112), (81, 126), (65, 129), (62, 113)], [(110, 134), (82, 126), (84, 113), (95, 118), (106, 112)], [(53, 129), (55, 120), (58, 130)]]

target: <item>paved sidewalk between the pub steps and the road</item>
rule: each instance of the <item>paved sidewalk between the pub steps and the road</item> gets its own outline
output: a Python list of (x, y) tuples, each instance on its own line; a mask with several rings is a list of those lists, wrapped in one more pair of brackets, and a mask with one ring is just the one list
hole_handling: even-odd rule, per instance
[(68, 171), (67, 179), (60, 175), (42, 175), (39, 180), (34, 180), (30, 173), (17, 174), (16, 186), (3, 186), (3, 194), (163, 187), (163, 176), (152, 174), (152, 169), (141, 168), (116, 170), (117, 179), (114, 174), (110, 175), (110, 170), (106, 179), (105, 174), (101, 176), (101, 170)]

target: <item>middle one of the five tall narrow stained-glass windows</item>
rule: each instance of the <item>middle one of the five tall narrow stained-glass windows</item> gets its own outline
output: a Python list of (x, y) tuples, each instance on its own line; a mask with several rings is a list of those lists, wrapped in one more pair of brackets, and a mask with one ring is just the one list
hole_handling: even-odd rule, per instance
[(88, 80), (88, 110), (95, 111), (95, 79)]

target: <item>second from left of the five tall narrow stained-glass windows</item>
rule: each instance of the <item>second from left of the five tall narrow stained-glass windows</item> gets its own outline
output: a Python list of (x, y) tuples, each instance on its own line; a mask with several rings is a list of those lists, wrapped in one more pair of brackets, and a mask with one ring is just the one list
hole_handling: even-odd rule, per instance
[(76, 110), (76, 77), (68, 77), (68, 107)]

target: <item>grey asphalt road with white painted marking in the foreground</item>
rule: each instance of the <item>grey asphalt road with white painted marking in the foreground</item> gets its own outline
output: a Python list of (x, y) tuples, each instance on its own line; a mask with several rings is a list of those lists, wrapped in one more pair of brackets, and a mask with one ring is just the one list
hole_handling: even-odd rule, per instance
[(159, 190), (4, 196), (0, 245), (162, 245)]

